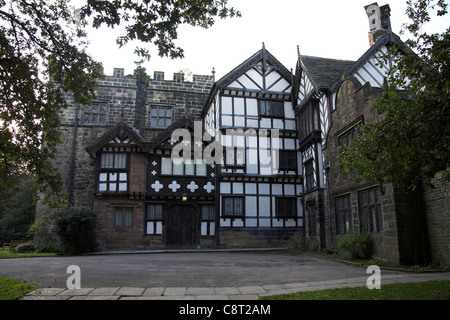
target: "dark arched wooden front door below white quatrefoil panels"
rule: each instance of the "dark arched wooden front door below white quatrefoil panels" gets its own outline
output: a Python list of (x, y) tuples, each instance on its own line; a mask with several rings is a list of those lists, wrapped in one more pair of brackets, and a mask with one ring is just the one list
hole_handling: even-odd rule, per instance
[(195, 247), (198, 244), (198, 211), (190, 205), (174, 205), (166, 217), (166, 246)]

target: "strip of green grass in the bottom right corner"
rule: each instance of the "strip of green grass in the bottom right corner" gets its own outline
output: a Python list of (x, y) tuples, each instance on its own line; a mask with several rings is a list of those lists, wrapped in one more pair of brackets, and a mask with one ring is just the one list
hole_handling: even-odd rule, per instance
[(429, 281), (367, 287), (297, 292), (262, 297), (261, 300), (450, 300), (450, 281)]

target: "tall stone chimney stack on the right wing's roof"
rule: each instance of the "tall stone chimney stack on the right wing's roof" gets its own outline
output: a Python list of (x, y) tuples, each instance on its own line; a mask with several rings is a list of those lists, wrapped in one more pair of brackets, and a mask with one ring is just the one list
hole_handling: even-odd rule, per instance
[(365, 6), (369, 18), (369, 43), (373, 46), (378, 39), (391, 32), (391, 8), (388, 4), (379, 7), (378, 3)]

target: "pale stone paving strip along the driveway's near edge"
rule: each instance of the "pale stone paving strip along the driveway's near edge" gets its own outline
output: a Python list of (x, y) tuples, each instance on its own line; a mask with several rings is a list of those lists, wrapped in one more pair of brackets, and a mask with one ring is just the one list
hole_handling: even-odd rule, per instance
[[(450, 280), (450, 273), (386, 275), (381, 285), (390, 283)], [(366, 277), (291, 284), (237, 287), (99, 287), (82, 289), (41, 288), (21, 300), (258, 300), (262, 296), (366, 286)]]

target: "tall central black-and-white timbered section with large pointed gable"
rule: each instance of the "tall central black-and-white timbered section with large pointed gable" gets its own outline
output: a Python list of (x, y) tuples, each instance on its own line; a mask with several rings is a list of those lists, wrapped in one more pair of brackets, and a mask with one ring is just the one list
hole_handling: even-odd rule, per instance
[(303, 227), (292, 73), (263, 48), (217, 81), (202, 116), (216, 166), (220, 245), (286, 244)]

